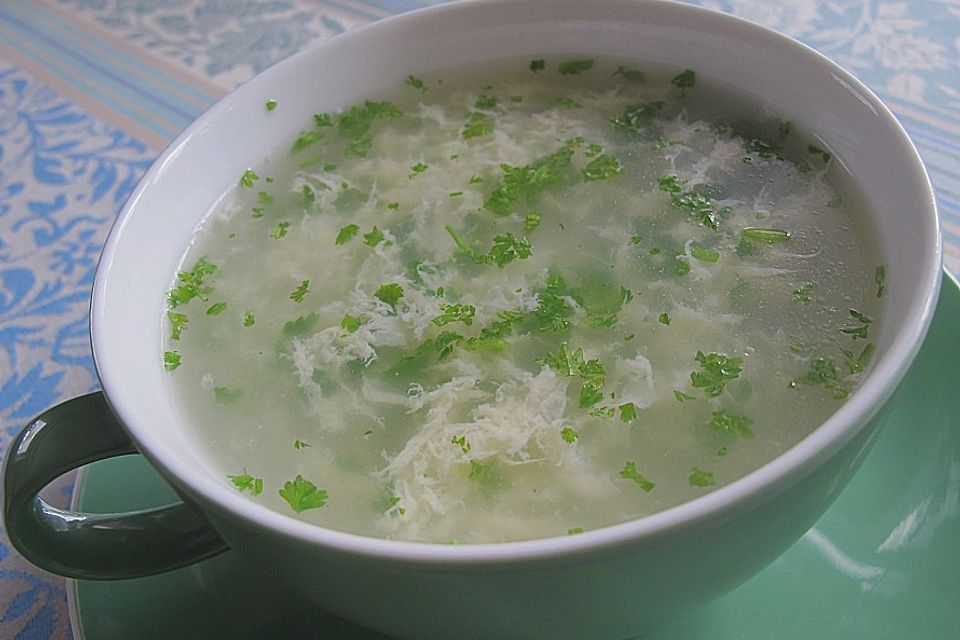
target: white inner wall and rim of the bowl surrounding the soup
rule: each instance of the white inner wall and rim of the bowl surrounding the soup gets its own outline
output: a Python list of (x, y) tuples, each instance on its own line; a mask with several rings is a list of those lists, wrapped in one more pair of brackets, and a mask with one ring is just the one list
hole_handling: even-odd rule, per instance
[[(164, 293), (201, 219), (248, 167), (287, 149), (312, 114), (376, 98), (408, 74), (503, 56), (617, 56), (691, 68), (763, 102), (819, 137), (854, 176), (886, 264), (884, 330), (868, 382), (817, 433), (772, 465), (692, 503), (607, 531), (557, 539), (594, 544), (672, 526), (729, 505), (763, 482), (836, 448), (892, 391), (932, 314), (940, 273), (938, 223), (916, 151), (889, 111), (814, 51), (742, 20), (687, 5), (622, 0), (464, 2), (338, 36), (270, 69), (184, 132), (149, 171), (108, 239), (92, 306), (95, 358), (110, 402), (153, 463), (190, 491), (264, 526), (353, 548), (389, 543), (298, 523), (212, 482), (178, 419), (161, 363)], [(282, 106), (267, 112), (264, 103)], [(281, 115), (282, 113), (282, 115)], [(412, 546), (412, 545), (410, 545)], [(491, 545), (508, 553), (530, 543)], [(411, 553), (470, 553), (416, 545)], [(547, 548), (541, 544), (539, 548)], [(558, 547), (559, 548), (559, 547)], [(385, 551), (386, 552), (386, 551)], [(406, 551), (405, 551), (406, 552)]]

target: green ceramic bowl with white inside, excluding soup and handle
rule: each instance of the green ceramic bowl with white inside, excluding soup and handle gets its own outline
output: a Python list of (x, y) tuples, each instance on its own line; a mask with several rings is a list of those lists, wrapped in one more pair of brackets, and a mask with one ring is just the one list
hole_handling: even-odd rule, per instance
[[(865, 194), (886, 264), (869, 377), (812, 435), (712, 493), (577, 536), (430, 545), (321, 529), (208, 471), (160, 361), (163, 292), (199, 218), (317, 111), (408, 74), (503, 56), (617, 56), (696, 70), (818, 137)], [(276, 99), (283, 118), (264, 109)], [(813, 50), (743, 20), (669, 2), (488, 0), (391, 18), (296, 55), (180, 136), (130, 198), (103, 253), (92, 334), (106, 396), (137, 447), (234, 553), (343, 617), (400, 638), (624, 638), (731, 589), (826, 509), (868, 450), (931, 319), (940, 278), (934, 198), (883, 104)]]

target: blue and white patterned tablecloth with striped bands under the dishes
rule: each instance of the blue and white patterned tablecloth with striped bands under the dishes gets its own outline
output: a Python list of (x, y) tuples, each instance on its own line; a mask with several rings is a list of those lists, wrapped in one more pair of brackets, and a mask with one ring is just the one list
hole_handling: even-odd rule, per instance
[[(587, 0), (585, 0), (587, 1)], [(319, 38), (429, 0), (0, 3), (0, 452), (97, 388), (88, 300), (110, 225), (151, 161), (214, 101)], [(819, 49), (901, 118), (960, 273), (960, 0), (700, 0)], [(54, 488), (60, 500), (69, 480)], [(55, 498), (58, 496), (54, 496)], [(0, 638), (69, 638), (64, 581), (0, 531)]]

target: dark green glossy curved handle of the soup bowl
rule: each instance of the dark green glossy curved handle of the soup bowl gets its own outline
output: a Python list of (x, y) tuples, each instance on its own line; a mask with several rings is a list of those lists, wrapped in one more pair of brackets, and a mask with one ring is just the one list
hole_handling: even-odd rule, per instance
[(58, 509), (38, 494), (89, 462), (137, 453), (103, 393), (80, 396), (30, 422), (7, 451), (3, 515), (27, 560), (70, 578), (116, 580), (192, 564), (228, 547), (189, 504), (120, 514)]

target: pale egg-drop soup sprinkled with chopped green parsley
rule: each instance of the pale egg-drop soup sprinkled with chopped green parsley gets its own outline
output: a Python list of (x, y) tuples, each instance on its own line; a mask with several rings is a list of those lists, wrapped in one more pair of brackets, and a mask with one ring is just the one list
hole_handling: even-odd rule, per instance
[(504, 66), (317, 113), (198, 229), (164, 363), (237, 491), (369, 536), (575, 534), (856, 387), (883, 267), (828, 151), (694, 70)]

